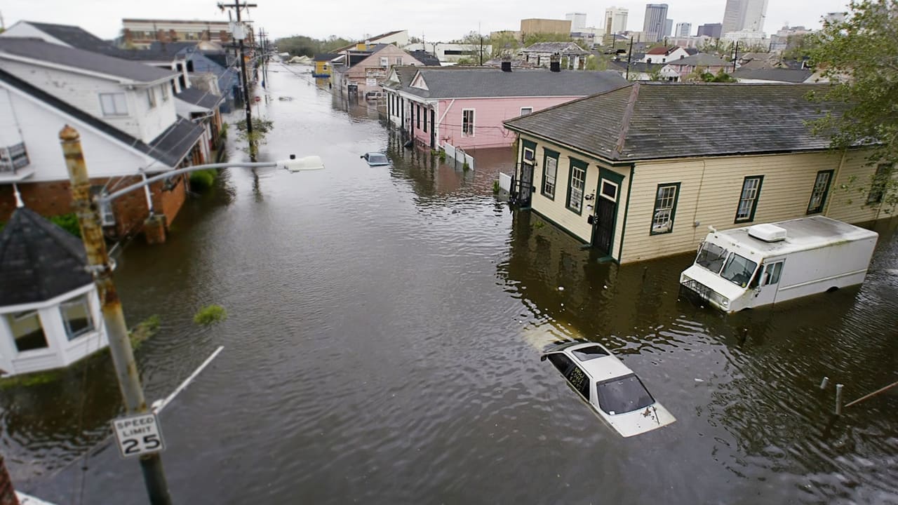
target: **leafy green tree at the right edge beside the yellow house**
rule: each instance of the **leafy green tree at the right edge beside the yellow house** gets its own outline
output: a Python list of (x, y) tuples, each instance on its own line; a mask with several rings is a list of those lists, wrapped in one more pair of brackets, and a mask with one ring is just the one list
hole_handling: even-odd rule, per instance
[(809, 126), (834, 149), (873, 144), (867, 161), (877, 165), (876, 175), (856, 189), (877, 193), (879, 201), (870, 203), (891, 212), (898, 204), (898, 1), (852, 0), (844, 21), (809, 38), (811, 63), (830, 85), (808, 98), (837, 109)]

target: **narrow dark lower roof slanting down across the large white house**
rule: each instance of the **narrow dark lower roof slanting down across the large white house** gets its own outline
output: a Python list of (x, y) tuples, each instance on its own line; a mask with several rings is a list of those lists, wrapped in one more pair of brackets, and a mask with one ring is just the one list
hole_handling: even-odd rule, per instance
[[(31, 95), (31, 97), (40, 102), (46, 103), (57, 111), (61, 111), (80, 120), (90, 125), (92, 128), (101, 131), (108, 137), (112, 137), (128, 147), (162, 162), (164, 166), (160, 167), (161, 170), (157, 172), (162, 172), (162, 169), (173, 168), (175, 165), (179, 164), (180, 160), (187, 155), (190, 148), (196, 144), (198, 138), (203, 134), (203, 128), (201, 126), (195, 125), (189, 120), (180, 119), (176, 123), (173, 123), (169, 128), (166, 128), (162, 135), (154, 138), (149, 144), (146, 144), (138, 138), (131, 137), (119, 128), (114, 128), (109, 123), (94, 118), (92, 115), (72, 106), (68, 102), (59, 100), (56, 96), (22, 81), (22, 79), (9, 74), (2, 68), (0, 68), (0, 82), (9, 84), (23, 93)], [(151, 172), (153, 171), (151, 170)]]

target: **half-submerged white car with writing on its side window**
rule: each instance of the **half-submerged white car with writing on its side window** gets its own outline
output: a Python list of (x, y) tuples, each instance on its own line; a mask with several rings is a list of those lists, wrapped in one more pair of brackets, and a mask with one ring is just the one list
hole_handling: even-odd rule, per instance
[(656, 430), (674, 421), (633, 370), (595, 342), (568, 342), (542, 354), (568, 379), (603, 420), (624, 437)]

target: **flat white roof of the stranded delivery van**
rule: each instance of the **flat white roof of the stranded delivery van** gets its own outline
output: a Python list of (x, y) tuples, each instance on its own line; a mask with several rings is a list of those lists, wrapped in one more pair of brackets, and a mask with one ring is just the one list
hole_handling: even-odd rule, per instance
[(766, 242), (754, 238), (752, 235), (748, 235), (748, 230), (752, 226), (711, 232), (709, 235), (725, 240), (729, 239), (765, 257), (817, 249), (827, 245), (854, 242), (879, 236), (876, 232), (860, 226), (850, 225), (824, 216), (799, 217), (770, 224), (785, 229), (786, 239), (779, 242)]

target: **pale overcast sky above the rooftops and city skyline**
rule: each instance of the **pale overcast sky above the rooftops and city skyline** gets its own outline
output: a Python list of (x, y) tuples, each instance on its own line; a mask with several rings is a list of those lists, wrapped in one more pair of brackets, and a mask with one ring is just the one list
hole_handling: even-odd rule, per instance
[[(233, 0), (228, 0), (233, 1)], [(256, 27), (274, 38), (299, 34), (315, 38), (338, 35), (363, 39), (365, 34), (408, 30), (409, 36), (426, 40), (453, 40), (469, 31), (483, 33), (518, 30), (526, 18), (564, 19), (566, 13), (586, 13), (587, 26), (600, 26), (605, 7), (629, 9), (628, 27), (642, 29), (645, 2), (591, 0), (251, 0)], [(660, 3), (660, 2), (656, 2)], [(775, 33), (788, 22), (792, 26), (819, 28), (824, 13), (845, 10), (847, 0), (769, 0), (765, 31)], [(726, 0), (671, 0), (668, 17), (691, 22), (692, 34), (700, 24), (721, 22)], [(207, 0), (0, 0), (0, 14), (7, 27), (19, 20), (76, 24), (110, 39), (121, 30), (122, 18), (227, 20), (227, 14)]]

